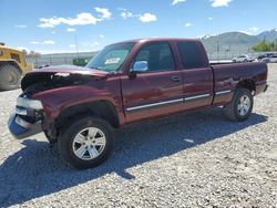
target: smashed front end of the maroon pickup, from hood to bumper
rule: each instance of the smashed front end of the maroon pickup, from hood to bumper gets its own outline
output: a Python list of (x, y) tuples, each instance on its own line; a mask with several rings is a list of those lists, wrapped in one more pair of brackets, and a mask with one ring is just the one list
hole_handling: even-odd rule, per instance
[[(100, 73), (101, 74), (101, 73)], [(55, 69), (40, 70), (27, 74), (21, 82), (23, 93), (17, 100), (16, 112), (9, 118), (9, 129), (18, 138), (27, 138), (41, 132), (47, 119), (43, 97), (34, 98), (40, 92), (61, 87), (89, 84), (91, 81), (103, 77), (88, 71), (61, 71)]]

